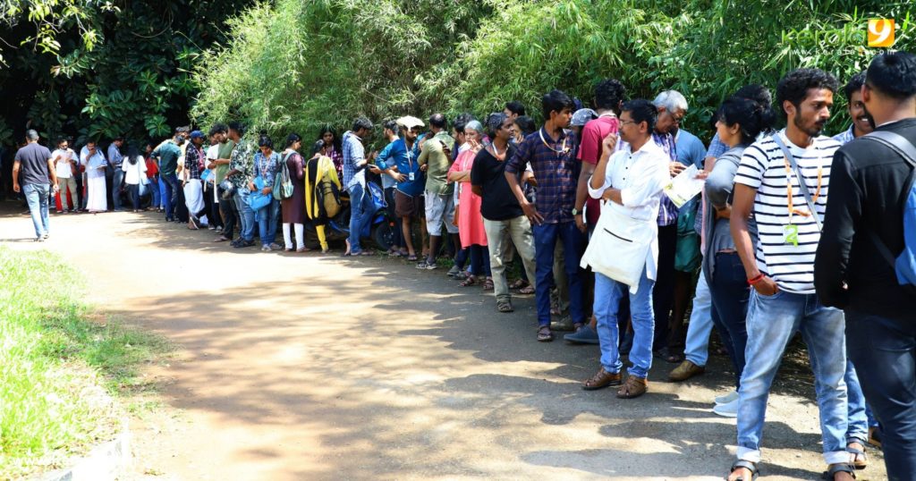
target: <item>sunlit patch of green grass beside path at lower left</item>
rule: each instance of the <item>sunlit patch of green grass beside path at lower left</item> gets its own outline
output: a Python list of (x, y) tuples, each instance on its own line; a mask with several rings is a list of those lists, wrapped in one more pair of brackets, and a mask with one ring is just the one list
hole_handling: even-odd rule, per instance
[(161, 339), (104, 321), (60, 257), (0, 246), (0, 479), (59, 467), (112, 438)]

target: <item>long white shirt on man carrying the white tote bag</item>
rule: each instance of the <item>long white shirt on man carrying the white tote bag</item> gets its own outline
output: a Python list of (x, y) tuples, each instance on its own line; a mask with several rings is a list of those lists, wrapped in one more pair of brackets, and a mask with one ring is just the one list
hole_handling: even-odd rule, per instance
[[(601, 199), (606, 189), (620, 190), (623, 205), (617, 202), (602, 202), (601, 210), (613, 209), (633, 219), (645, 221), (648, 228), (658, 230), (659, 205), (664, 188), (671, 183), (668, 164), (671, 158), (651, 138), (636, 152), (629, 144), (617, 149), (607, 160), (605, 182), (600, 189), (593, 189), (589, 180), (588, 194)], [(656, 279), (659, 264), (659, 241), (654, 235), (649, 255), (646, 257), (646, 272), (649, 279)]]

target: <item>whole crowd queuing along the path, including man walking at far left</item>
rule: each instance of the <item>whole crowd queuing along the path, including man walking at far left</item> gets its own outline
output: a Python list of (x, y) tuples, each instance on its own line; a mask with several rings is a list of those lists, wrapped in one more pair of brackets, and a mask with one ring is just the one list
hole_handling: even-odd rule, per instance
[[(213, 229), (214, 242), (257, 238), (265, 252), (311, 250), (308, 228), (327, 253), (337, 219), (348, 227), (344, 257), (373, 255), (366, 226), (383, 202), (390, 257), (451, 265), (459, 286), (493, 291), (496, 312), (514, 311), (513, 290), (533, 293), (535, 338), (567, 330), (570, 343), (598, 344), (582, 388), (615, 387), (620, 399), (649, 390), (655, 358), (676, 365), (673, 382), (703, 374), (715, 329), (735, 375), (734, 390), (712, 399), (715, 414), (737, 421), (729, 480), (758, 476), (769, 391), (801, 333), (825, 476), (854, 478), (871, 443), (891, 479), (911, 479), (916, 58), (879, 54), (850, 79), (851, 126), (825, 137), (838, 93), (818, 69), (788, 72), (775, 108), (768, 87), (747, 85), (716, 110), (709, 148), (683, 128), (681, 93), (628, 99), (614, 79), (595, 85), (594, 109), (545, 93), (540, 128), (518, 102), (480, 119), (388, 120), (380, 151), (365, 117), (339, 139), (322, 129), (307, 148), (298, 134), (254, 143), (231, 123), (206, 135), (179, 128), (142, 154), (119, 138), (107, 156), (94, 142), (76, 155), (65, 139), (52, 153), (29, 131), (14, 185), (38, 241), (49, 236), (49, 202), (103, 212), (114, 191), (118, 210), (125, 191), (135, 212), (146, 202), (166, 221)], [(676, 185), (694, 190), (681, 198)], [(513, 263), (521, 279), (510, 283)]]

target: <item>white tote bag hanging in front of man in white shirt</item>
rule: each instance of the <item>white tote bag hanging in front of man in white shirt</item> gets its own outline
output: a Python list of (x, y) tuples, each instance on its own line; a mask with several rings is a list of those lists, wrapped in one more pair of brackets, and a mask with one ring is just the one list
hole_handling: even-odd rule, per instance
[(582, 268), (591, 266), (636, 293), (649, 249), (658, 235), (655, 225), (654, 219), (634, 219), (617, 209), (603, 207), (582, 257)]

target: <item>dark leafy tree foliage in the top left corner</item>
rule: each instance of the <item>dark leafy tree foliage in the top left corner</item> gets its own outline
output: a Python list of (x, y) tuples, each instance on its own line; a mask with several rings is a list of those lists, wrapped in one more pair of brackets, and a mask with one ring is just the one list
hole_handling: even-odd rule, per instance
[[(226, 17), (251, 4), (0, 0), (0, 23), (14, 27), (0, 37), (20, 44), (0, 43), (0, 56), (10, 60), (0, 65), (8, 99), (0, 117), (18, 129), (31, 121), (42, 137), (69, 135), (78, 144), (166, 137), (189, 122), (202, 49), (222, 39)], [(42, 34), (46, 25), (52, 27)]]

